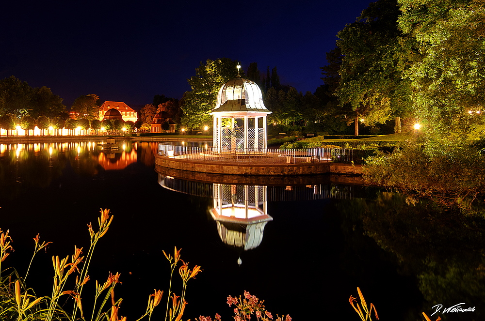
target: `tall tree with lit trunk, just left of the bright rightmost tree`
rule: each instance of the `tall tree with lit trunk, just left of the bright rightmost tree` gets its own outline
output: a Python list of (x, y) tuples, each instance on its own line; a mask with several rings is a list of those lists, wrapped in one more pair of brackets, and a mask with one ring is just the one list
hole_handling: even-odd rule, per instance
[(401, 31), (396, 0), (372, 2), (356, 22), (338, 33), (342, 53), (337, 89), (340, 106), (350, 104), (358, 122), (384, 123), (409, 108), (408, 82), (398, 68)]

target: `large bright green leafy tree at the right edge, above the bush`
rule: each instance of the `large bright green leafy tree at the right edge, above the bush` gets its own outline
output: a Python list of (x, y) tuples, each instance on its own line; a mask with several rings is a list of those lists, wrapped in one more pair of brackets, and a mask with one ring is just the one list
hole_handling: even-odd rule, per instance
[(411, 80), (413, 108), (428, 132), (463, 137), (482, 117), (485, 100), (485, 19), (481, 0), (398, 0), (399, 27)]

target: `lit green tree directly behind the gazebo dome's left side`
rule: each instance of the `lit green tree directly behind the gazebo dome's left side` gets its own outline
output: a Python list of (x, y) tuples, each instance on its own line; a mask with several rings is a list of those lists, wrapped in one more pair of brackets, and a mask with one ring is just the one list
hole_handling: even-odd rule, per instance
[(217, 92), (229, 79), (237, 76), (237, 61), (228, 58), (208, 59), (195, 69), (195, 76), (188, 82), (190, 92), (185, 92), (182, 98), (182, 123), (193, 129), (210, 121), (210, 110), (215, 107)]

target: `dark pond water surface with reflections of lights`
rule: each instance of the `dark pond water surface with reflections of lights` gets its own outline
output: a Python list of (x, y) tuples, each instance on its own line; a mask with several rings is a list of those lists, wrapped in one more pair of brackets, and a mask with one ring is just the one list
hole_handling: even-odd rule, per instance
[[(52, 241), (29, 275), (28, 285), (38, 295), (50, 293), (51, 256), (70, 255), (74, 245), (87, 250), (86, 223), (97, 224), (100, 208), (108, 208), (113, 223), (96, 249), (93, 288), (83, 298), (94, 292), (95, 279), (104, 282), (109, 271), (119, 272), (123, 284), (115, 294), (123, 297), (121, 314), (129, 320), (143, 314), (153, 289), (168, 290), (162, 250), (173, 252), (174, 246), (182, 248), (191, 268), (204, 270), (189, 281), (183, 320), (216, 312), (232, 320), (226, 297), (244, 290), (264, 299), (273, 316), (359, 320), (349, 305), (356, 287), (376, 306), (380, 320), (423, 320), (421, 312), (431, 315), (438, 304), (443, 308), (432, 320), (484, 319), (483, 215), (443, 211), (322, 176), (259, 189), (259, 209), (272, 220), (255, 241), (245, 224), (221, 225), (210, 214), (217, 207), (214, 190), (221, 186), (229, 203), (243, 204), (243, 185), (158, 173), (156, 143), (119, 146), (104, 153), (101, 142), (0, 144), (0, 228), (10, 229), (15, 248), (2, 268), (14, 265), (24, 275), (32, 237), (40, 233)], [(248, 186), (246, 196), (260, 188)], [(246, 247), (252, 248), (220, 236), (238, 232), (251, 234)], [(178, 274), (174, 282), (179, 295)], [(460, 303), (475, 311), (442, 313)], [(155, 313), (162, 319), (164, 308)]]

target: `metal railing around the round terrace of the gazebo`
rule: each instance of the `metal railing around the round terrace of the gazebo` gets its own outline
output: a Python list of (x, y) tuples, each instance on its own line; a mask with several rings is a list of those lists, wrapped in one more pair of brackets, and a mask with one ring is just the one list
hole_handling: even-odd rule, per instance
[(352, 161), (361, 163), (362, 157), (355, 159), (354, 151), (354, 149), (349, 148), (226, 149), (211, 146), (158, 145), (158, 154), (168, 158), (225, 163), (296, 164)]

